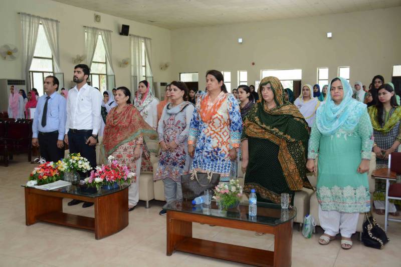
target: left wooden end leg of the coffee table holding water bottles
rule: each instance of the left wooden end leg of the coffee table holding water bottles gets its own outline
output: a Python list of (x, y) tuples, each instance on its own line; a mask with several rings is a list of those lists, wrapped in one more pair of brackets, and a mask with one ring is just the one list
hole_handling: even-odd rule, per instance
[(171, 218), (174, 211), (167, 210), (167, 256), (171, 256), (175, 247), (188, 237), (192, 237), (192, 222)]

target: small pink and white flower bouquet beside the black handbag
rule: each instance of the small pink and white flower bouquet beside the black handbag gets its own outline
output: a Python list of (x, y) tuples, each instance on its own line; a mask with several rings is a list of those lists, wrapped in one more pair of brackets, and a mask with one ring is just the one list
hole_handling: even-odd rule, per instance
[(230, 180), (230, 182), (220, 183), (215, 187), (214, 199), (219, 203), (222, 210), (234, 208), (240, 203), (242, 195), (242, 187), (238, 180)]

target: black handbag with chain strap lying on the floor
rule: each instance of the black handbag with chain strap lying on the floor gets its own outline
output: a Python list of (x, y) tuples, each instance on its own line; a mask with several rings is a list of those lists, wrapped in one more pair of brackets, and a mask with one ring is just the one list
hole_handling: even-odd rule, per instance
[(373, 216), (368, 217), (365, 213), (363, 222), (362, 242), (365, 246), (382, 249), (390, 239), (383, 228), (378, 225)]

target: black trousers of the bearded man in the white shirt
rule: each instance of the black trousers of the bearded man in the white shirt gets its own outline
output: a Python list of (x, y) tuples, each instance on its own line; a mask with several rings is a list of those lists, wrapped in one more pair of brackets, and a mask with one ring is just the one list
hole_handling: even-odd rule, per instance
[(92, 136), (92, 130), (73, 130), (68, 131), (68, 147), (70, 153), (80, 153), (82, 157), (87, 158), (92, 169), (96, 168), (96, 146), (86, 144), (89, 137)]

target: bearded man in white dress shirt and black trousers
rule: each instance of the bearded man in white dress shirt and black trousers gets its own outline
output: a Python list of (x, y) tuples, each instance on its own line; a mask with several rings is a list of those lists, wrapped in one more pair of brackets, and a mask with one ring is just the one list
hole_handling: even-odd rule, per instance
[[(90, 69), (85, 64), (74, 68), (74, 82), (77, 85), (68, 92), (67, 122), (64, 141), (68, 144), (70, 153), (81, 153), (89, 160), (92, 168), (96, 167), (96, 143), (100, 129), (102, 95), (99, 90), (89, 86)], [(69, 206), (76, 205), (81, 200), (72, 200)], [(82, 207), (92, 206), (85, 202)]]

